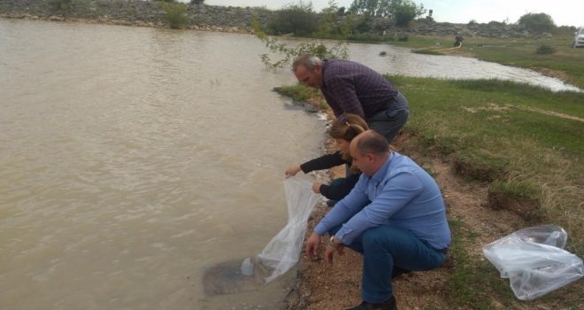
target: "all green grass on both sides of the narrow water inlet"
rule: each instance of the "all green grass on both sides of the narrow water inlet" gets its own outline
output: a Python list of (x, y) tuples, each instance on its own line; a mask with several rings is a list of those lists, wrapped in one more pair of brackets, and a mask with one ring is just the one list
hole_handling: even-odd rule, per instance
[[(427, 49), (436, 42), (448, 48), (453, 38), (411, 36), (407, 42), (392, 44)], [(545, 68), (584, 88), (584, 49), (571, 49), (570, 43), (567, 36), (467, 38), (461, 49), (449, 53), (539, 71)], [(553, 53), (537, 54), (542, 45), (553, 47)], [(529, 224), (563, 227), (568, 233), (566, 250), (584, 255), (584, 93), (552, 92), (512, 81), (400, 75), (388, 79), (408, 98), (411, 118), (404, 130), (425, 147), (422, 153), (437, 150), (465, 178), (487, 181), (489, 192), (533, 204), (528, 212), (538, 222)], [(296, 87), (300, 93), (306, 90), (312, 91)], [(314, 99), (314, 93), (307, 97)], [(534, 301), (519, 301), (508, 279), (500, 278), (482, 255), (469, 252), (478, 237), (473, 228), (464, 219), (452, 218), (450, 228), (449, 308), (580, 309), (584, 305), (581, 279)]]

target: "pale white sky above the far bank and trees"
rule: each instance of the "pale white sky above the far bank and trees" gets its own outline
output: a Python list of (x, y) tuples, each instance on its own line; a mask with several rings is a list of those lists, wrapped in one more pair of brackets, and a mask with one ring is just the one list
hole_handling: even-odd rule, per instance
[[(329, 0), (303, 0), (311, 2), (315, 12), (328, 6)], [(350, 7), (353, 0), (334, 0), (337, 6)], [(489, 21), (515, 23), (526, 13), (546, 13), (556, 26), (584, 26), (584, 1), (581, 0), (413, 0), (433, 10), (432, 17), (438, 22), (466, 24), (471, 19), (479, 23)], [(281, 9), (298, 0), (204, 0), (207, 5), (265, 6), (270, 10)], [(427, 13), (426, 13), (427, 15)], [(423, 16), (426, 16), (423, 15)]]

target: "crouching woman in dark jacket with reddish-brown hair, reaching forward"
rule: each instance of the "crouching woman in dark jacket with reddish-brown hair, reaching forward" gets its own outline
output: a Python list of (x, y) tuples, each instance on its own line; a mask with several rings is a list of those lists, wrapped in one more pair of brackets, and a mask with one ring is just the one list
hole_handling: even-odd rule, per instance
[(367, 123), (357, 114), (342, 114), (341, 117), (333, 120), (328, 133), (334, 138), (339, 151), (317, 159), (311, 159), (301, 165), (288, 167), (285, 171), (286, 176), (296, 175), (301, 170), (304, 174), (307, 174), (311, 171), (329, 169), (346, 164), (349, 167), (346, 177), (334, 179), (330, 184), (319, 182), (312, 184), (312, 190), (328, 198), (331, 204), (341, 200), (353, 189), (361, 174), (355, 167), (352, 167), (349, 153), (350, 142), (355, 136), (367, 129)]

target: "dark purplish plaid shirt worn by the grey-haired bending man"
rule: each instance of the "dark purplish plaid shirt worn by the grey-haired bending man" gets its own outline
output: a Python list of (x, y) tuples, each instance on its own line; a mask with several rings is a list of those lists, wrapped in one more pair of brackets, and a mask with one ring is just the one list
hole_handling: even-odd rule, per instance
[(395, 86), (373, 69), (341, 59), (323, 61), (320, 90), (336, 117), (347, 112), (365, 120), (388, 108), (398, 93)]

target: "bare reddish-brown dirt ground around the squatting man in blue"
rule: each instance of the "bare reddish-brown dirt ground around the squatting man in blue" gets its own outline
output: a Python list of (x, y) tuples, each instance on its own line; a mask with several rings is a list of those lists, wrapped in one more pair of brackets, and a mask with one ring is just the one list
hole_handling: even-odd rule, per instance
[[(454, 173), (449, 163), (442, 162), (437, 156), (421, 156), (418, 146), (411, 142), (410, 137), (404, 134), (397, 136), (392, 146), (396, 151), (410, 156), (420, 166), (432, 172), (441, 187), (450, 218), (462, 220), (464, 222), (462, 229), (478, 233), (477, 242), (470, 244), (466, 249), (470, 255), (485, 260), (481, 252), (482, 246), (526, 227), (526, 222), (518, 214), (508, 210), (494, 210), (487, 206), (486, 183), (466, 181)], [(334, 142), (327, 141), (326, 149), (334, 150)], [(343, 174), (344, 167), (337, 167), (329, 176)], [(317, 179), (323, 177), (322, 174), (316, 175)], [(309, 220), (308, 236), (329, 209), (325, 204), (317, 205)], [(304, 253), (302, 254), (299, 280), (294, 298), (288, 300), (288, 309), (338, 310), (356, 306), (361, 302), (361, 255), (345, 249), (343, 256), (335, 255), (334, 264), (331, 266), (324, 260), (325, 239), (323, 238), (323, 244), (320, 246), (321, 259), (310, 260)], [(449, 258), (442, 267), (433, 271), (414, 272), (395, 279), (393, 286), (398, 308), (402, 310), (450, 308), (444, 296), (449, 288), (447, 282), (451, 267), (453, 264)], [(503, 306), (497, 306), (496, 301), (492, 304), (494, 308), (503, 309)], [(525, 308), (531, 309), (533, 306), (526, 304)]]

